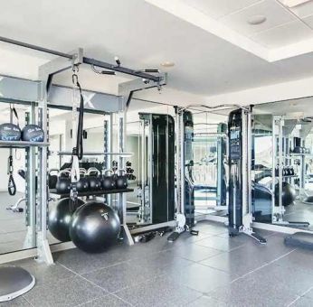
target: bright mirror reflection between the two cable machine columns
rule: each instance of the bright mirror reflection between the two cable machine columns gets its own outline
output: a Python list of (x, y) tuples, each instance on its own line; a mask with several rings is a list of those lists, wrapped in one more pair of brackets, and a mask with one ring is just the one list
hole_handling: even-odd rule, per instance
[(227, 116), (201, 110), (192, 112), (194, 165), (189, 173), (194, 189), (194, 213), (198, 219), (207, 214), (226, 216)]

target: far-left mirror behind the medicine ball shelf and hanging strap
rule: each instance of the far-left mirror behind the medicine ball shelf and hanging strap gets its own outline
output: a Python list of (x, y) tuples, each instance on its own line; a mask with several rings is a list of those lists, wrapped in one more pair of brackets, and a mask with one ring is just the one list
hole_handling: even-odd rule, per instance
[[(10, 105), (3, 103), (0, 112), (0, 124), (12, 123), (20, 126), (21, 129), (26, 125), (26, 117), (36, 113), (35, 107), (24, 105), (12, 105), (15, 107), (17, 117), (14, 116)], [(33, 120), (35, 120), (33, 118)], [(34, 149), (32, 149), (34, 150)], [(0, 169), (0, 254), (10, 253), (17, 250), (35, 247), (34, 223), (32, 214), (35, 209), (33, 200), (34, 193), (26, 198), (25, 176), (27, 178), (28, 170), (26, 169), (26, 154), (30, 149), (18, 148), (8, 149), (1, 148), (1, 159), (3, 167)], [(12, 155), (12, 176), (14, 179), (16, 192), (10, 195), (8, 192), (8, 158)], [(28, 155), (29, 156), (29, 155)], [(34, 158), (33, 163), (36, 162)], [(29, 168), (28, 168), (29, 169)], [(27, 215), (26, 215), (27, 213)]]

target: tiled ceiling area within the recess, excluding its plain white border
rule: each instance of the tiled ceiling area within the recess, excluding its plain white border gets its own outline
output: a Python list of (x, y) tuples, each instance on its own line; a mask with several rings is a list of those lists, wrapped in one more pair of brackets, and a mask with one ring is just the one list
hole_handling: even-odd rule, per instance
[[(288, 8), (284, 0), (181, 0), (232, 30), (269, 48), (282, 47), (313, 37), (313, 2)], [(253, 15), (264, 15), (266, 22), (247, 23)]]

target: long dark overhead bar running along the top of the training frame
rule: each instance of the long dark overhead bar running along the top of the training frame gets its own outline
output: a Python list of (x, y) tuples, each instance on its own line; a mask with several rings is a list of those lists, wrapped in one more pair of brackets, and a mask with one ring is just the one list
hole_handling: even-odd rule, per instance
[[(15, 41), (15, 40), (3, 37), (3, 36), (0, 36), (0, 42), (7, 42), (7, 43), (11, 43), (11, 44), (20, 46), (20, 47), (32, 49), (35, 51), (50, 53), (50, 54), (56, 55), (58, 57), (67, 58), (70, 60), (72, 59), (71, 54), (60, 52), (60, 51), (54, 51), (52, 49), (43, 48), (43, 47), (36, 46), (36, 45), (26, 43), (26, 42)], [(149, 74), (147, 72), (143, 72), (143, 71), (131, 70), (131, 69), (119, 66), (119, 65), (109, 64), (109, 63), (104, 62), (102, 60), (94, 60), (94, 59), (83, 57), (82, 62), (85, 64), (100, 67), (102, 69), (118, 71), (120, 73), (125, 73), (127, 75), (135, 76), (135, 77), (142, 78), (142, 79), (151, 80), (154, 82), (160, 82), (162, 80), (162, 77), (157, 77), (157, 76), (151, 75), (151, 74)]]

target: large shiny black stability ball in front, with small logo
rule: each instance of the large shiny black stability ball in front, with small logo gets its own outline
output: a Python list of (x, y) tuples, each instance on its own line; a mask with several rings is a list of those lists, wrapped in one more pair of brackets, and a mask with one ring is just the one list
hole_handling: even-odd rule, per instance
[(86, 253), (101, 253), (119, 237), (119, 216), (101, 201), (90, 201), (71, 218), (70, 237)]

